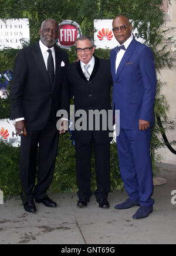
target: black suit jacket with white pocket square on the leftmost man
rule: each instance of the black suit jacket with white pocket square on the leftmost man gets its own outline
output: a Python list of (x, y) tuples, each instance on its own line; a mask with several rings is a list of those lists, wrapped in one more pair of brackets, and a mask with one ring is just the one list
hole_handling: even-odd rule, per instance
[[(65, 83), (67, 53), (55, 46), (55, 80), (50, 84), (39, 42), (19, 51), (13, 69), (11, 119), (25, 118), (27, 130), (42, 130), (51, 110), (69, 111)], [(65, 66), (61, 66), (61, 63)]]

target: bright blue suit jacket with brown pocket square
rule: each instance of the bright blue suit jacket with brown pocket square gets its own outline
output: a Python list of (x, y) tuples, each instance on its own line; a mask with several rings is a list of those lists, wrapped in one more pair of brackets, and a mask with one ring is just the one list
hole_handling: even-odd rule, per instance
[(138, 129), (139, 119), (154, 124), (156, 73), (153, 52), (133, 39), (116, 73), (116, 51), (110, 52), (113, 109), (120, 110), (120, 127)]

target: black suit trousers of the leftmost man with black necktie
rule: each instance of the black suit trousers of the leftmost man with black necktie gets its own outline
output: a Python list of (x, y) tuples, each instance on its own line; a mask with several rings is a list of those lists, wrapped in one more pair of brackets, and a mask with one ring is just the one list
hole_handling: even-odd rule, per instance
[(55, 169), (58, 139), (59, 131), (52, 115), (43, 130), (31, 131), (28, 136), (21, 137), (19, 169), (26, 200), (46, 196)]

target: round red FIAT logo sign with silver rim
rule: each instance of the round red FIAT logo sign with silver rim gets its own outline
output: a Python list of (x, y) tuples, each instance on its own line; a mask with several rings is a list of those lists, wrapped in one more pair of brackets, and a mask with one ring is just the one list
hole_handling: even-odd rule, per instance
[(69, 19), (59, 24), (59, 40), (57, 44), (65, 49), (70, 49), (75, 45), (75, 41), (82, 35), (79, 25)]

